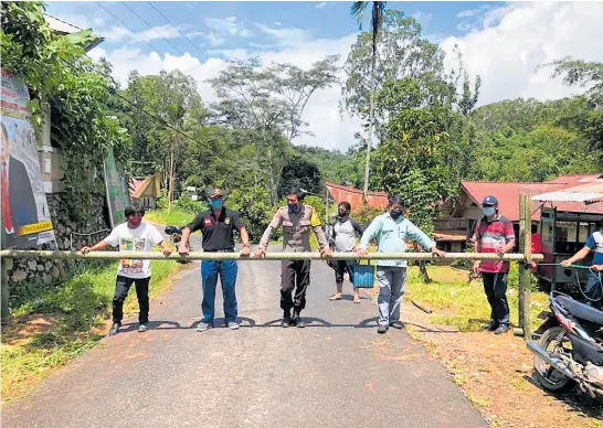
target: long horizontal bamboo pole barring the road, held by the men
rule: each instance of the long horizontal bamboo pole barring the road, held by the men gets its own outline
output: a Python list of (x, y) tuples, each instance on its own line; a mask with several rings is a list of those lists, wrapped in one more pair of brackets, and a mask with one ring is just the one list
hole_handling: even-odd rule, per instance
[[(241, 256), (239, 253), (202, 253), (191, 252), (188, 256), (180, 256), (174, 253), (171, 256), (165, 256), (160, 252), (93, 252), (83, 255), (80, 252), (57, 252), (57, 250), (0, 250), (0, 257), (6, 258), (49, 258), (49, 259), (147, 259), (147, 260), (326, 260), (327, 257), (320, 253), (266, 253), (263, 258)], [(445, 257), (436, 257), (431, 253), (369, 253), (367, 256), (359, 257), (356, 253), (334, 253), (334, 260), (436, 260), (440, 258), (452, 260), (508, 260), (522, 261), (523, 254), (496, 254), (484, 253), (447, 253)], [(533, 260), (542, 260), (541, 254), (532, 255)]]

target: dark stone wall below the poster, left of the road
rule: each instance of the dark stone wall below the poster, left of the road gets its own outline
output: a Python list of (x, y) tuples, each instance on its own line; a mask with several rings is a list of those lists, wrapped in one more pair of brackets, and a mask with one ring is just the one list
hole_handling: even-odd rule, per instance
[[(109, 224), (105, 216), (105, 199), (98, 197), (95, 201), (97, 214), (85, 221), (74, 221), (65, 212), (63, 204), (64, 194), (46, 193), (49, 210), (52, 216), (54, 234), (59, 249), (70, 250), (71, 234), (76, 232), (80, 234), (88, 234), (105, 228), (109, 228)], [(96, 234), (93, 236), (73, 236), (73, 248), (80, 249), (84, 245), (92, 245), (108, 235), (108, 232)], [(42, 249), (54, 249), (54, 243), (44, 244)], [(22, 287), (34, 285), (52, 285), (59, 283), (62, 276), (73, 266), (76, 260), (49, 260), (49, 259), (14, 259), (12, 268), (9, 270), (9, 287), (12, 287), (11, 296)]]

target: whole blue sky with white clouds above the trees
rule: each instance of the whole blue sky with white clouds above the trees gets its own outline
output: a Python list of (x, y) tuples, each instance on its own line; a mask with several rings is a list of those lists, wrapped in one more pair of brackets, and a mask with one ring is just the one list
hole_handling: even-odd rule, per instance
[[(338, 54), (343, 62), (359, 33), (349, 18), (350, 4), (49, 1), (46, 12), (105, 38), (89, 55), (106, 57), (121, 84), (135, 68), (142, 75), (179, 68), (197, 79), (209, 104), (215, 95), (205, 81), (224, 69), (229, 60), (257, 55), (264, 64), (307, 68)], [(603, 62), (603, 2), (388, 1), (387, 7), (414, 17), (424, 36), (447, 54), (459, 46), (469, 76), (482, 77), (478, 105), (580, 94), (583, 89), (564, 86), (550, 77), (550, 69), (537, 69), (538, 65), (565, 56)], [(342, 151), (355, 145), (361, 124), (339, 113), (340, 97), (339, 86), (315, 93), (303, 117), (313, 136), (294, 142)]]

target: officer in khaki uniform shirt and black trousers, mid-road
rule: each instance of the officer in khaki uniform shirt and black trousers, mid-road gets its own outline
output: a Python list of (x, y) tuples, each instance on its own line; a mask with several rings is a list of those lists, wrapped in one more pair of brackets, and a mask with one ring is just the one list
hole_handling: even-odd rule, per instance
[[(264, 232), (255, 257), (263, 257), (274, 231), (283, 225), (283, 250), (292, 253), (310, 252), (310, 228), (318, 238), (320, 253), (332, 255), (327, 237), (320, 228), (320, 220), (315, 208), (304, 205), (304, 192), (295, 190), (287, 195), (287, 206), (278, 208)], [(310, 260), (283, 260), (281, 283), (282, 327), (305, 327), (299, 313), (306, 307), (306, 290), (310, 283)], [(295, 297), (293, 291), (295, 288)], [(294, 310), (292, 318), (292, 308)]]

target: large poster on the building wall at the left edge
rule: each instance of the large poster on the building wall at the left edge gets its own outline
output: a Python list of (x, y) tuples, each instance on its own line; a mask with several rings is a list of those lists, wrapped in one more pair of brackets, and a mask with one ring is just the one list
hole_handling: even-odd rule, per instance
[(2, 248), (36, 248), (54, 240), (42, 184), (29, 90), (2, 68), (0, 172)]

